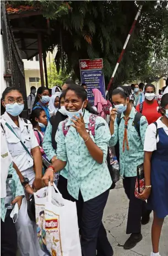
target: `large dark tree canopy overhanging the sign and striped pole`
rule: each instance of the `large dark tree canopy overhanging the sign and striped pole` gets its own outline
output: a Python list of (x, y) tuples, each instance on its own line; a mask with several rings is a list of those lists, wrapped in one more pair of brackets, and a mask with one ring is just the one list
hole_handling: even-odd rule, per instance
[(143, 4), (142, 14), (118, 67), (115, 84), (143, 76), (151, 53), (156, 58), (164, 57), (162, 45), (168, 42), (167, 1), (29, 1), (35, 3), (41, 6), (44, 17), (50, 18), (53, 31), (43, 47), (58, 47), (58, 72), (60, 68), (67, 73), (74, 70), (80, 79), (79, 59), (103, 58), (107, 84), (139, 4)]

